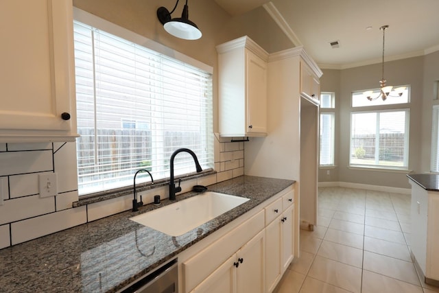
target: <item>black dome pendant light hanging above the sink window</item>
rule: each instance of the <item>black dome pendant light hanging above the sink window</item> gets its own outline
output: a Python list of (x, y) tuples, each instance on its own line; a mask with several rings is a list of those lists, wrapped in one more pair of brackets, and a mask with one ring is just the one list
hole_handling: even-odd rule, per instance
[(185, 40), (198, 40), (201, 38), (202, 33), (198, 30), (197, 25), (192, 21), (189, 21), (189, 7), (187, 6), (187, 0), (185, 7), (180, 18), (172, 19), (171, 14), (176, 10), (178, 1), (174, 6), (174, 9), (169, 12), (166, 8), (161, 7), (157, 10), (158, 20), (163, 24), (165, 30), (172, 36), (177, 38), (183, 38)]

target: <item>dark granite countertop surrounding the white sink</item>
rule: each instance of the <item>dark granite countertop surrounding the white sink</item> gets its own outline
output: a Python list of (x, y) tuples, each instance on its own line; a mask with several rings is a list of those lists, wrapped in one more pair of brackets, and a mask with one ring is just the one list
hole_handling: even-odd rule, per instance
[[(129, 220), (159, 208), (148, 204), (139, 212), (126, 211), (4, 248), (0, 292), (116, 292), (293, 183), (240, 176), (210, 185), (210, 191), (250, 200), (177, 237)], [(195, 195), (188, 192), (177, 200)], [(171, 203), (162, 200), (161, 207)]]

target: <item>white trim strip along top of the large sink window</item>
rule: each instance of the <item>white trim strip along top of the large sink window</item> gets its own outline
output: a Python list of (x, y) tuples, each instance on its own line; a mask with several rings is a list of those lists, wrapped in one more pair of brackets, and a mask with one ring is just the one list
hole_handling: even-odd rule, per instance
[(213, 67), (206, 65), (203, 62), (195, 60), (185, 54), (180, 53), (179, 51), (157, 43), (154, 40), (150, 40), (145, 36), (136, 34), (135, 32), (127, 30), (124, 27), (120, 27), (119, 25), (110, 23), (109, 21), (101, 19), (98, 16), (95, 16), (84, 10), (80, 10), (79, 8), (73, 7), (73, 19), (82, 23), (86, 23), (87, 25), (90, 25), (92, 27), (96, 27), (97, 29), (108, 32), (109, 34), (114, 34), (115, 36), (119, 36), (121, 38), (129, 40), (130, 42), (136, 43), (137, 45), (152, 49), (153, 51), (166, 55), (170, 58), (185, 62), (189, 65), (192, 65), (193, 67), (197, 67), (198, 69), (206, 71), (207, 73), (213, 73)]

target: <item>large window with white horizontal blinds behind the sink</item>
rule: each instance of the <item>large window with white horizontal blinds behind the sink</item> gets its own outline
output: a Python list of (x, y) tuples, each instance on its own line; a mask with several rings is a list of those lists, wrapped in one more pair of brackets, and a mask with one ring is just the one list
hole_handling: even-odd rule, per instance
[[(203, 169), (213, 167), (211, 67), (169, 58), (138, 45), (163, 47), (152, 40), (119, 33), (74, 22), (80, 196), (131, 187), (137, 169), (167, 178), (178, 148), (193, 150)], [(193, 159), (179, 154), (174, 169), (195, 172)]]

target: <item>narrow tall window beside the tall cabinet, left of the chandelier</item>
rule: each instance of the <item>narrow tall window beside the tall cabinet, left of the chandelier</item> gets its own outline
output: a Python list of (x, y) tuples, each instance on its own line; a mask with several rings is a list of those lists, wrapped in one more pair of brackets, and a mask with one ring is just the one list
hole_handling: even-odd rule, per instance
[(320, 94), (320, 167), (334, 165), (335, 93)]

